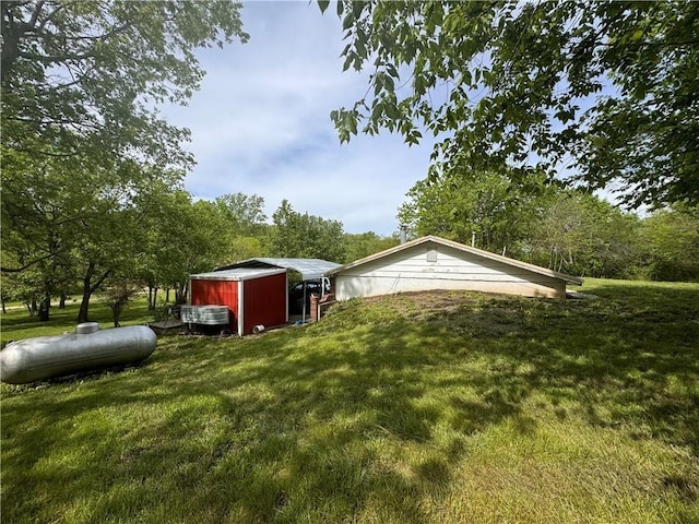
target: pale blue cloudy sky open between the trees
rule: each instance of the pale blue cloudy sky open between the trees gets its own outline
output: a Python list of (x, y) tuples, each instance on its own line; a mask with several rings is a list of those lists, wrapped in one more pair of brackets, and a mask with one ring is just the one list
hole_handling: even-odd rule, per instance
[(190, 104), (165, 118), (189, 128), (197, 199), (242, 192), (272, 213), (283, 199), (346, 233), (398, 231), (405, 193), (427, 176), (433, 142), (408, 147), (388, 131), (340, 144), (330, 111), (351, 107), (368, 74), (342, 71), (341, 21), (317, 2), (246, 2), (247, 44), (198, 52), (206, 76)]

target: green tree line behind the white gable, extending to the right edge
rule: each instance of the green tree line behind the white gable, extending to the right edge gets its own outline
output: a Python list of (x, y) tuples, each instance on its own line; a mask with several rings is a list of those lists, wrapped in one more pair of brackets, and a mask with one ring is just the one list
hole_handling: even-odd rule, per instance
[(418, 181), (399, 210), (413, 236), (438, 235), (579, 276), (699, 281), (699, 209), (644, 216), (580, 189), (507, 174)]

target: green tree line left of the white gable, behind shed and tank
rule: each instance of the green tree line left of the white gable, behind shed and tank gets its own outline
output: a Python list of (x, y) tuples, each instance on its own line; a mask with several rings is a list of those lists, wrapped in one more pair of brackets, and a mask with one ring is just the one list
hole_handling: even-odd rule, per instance
[(269, 224), (257, 194), (196, 200), (156, 180), (116, 199), (107, 187), (85, 184), (88, 177), (57, 191), (66, 179), (76, 180), (66, 174), (55, 183), (43, 177), (46, 191), (32, 188), (22, 200), (25, 180), (5, 178), (3, 196), (12, 205), (3, 206), (2, 302), (22, 301), (42, 320), (49, 319), (51, 301), (63, 307), (68, 296), (80, 297), (76, 321), (84, 322), (96, 293), (117, 313), (145, 289), (155, 309), (158, 291), (181, 303), (190, 274), (232, 262), (292, 257), (344, 263), (398, 243), (371, 231), (346, 234), (340, 222), (296, 212), (286, 200)]

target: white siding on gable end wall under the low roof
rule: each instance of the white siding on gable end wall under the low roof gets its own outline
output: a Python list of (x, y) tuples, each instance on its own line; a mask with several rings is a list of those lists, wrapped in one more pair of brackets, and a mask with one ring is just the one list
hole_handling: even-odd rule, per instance
[[(437, 251), (437, 259), (428, 253)], [(399, 291), (471, 289), (528, 297), (565, 297), (566, 284), (502, 262), (427, 242), (341, 271), (335, 277), (339, 300)]]

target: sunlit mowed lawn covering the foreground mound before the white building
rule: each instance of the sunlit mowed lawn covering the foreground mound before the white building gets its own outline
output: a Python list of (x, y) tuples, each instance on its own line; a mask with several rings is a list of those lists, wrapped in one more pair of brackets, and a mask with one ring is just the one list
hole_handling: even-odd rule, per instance
[(2, 522), (699, 522), (699, 285), (583, 290), (352, 300), (3, 385)]

